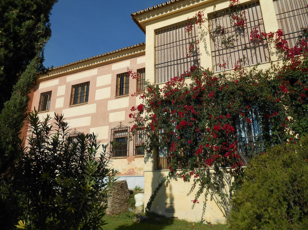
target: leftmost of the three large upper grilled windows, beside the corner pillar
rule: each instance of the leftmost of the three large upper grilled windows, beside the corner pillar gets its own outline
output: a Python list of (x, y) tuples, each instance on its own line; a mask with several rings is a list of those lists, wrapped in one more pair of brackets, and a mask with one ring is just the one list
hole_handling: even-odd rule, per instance
[[(200, 64), (198, 26), (193, 25), (191, 36), (186, 27), (188, 22), (156, 30), (156, 83), (170, 81), (172, 77), (180, 76), (190, 67)], [(189, 53), (189, 46), (194, 41), (194, 53)]]

